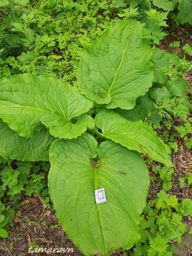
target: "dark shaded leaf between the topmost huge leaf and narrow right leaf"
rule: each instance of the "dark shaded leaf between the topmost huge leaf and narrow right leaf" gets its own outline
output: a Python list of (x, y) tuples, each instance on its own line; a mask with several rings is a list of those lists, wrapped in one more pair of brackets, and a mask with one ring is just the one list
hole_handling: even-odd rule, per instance
[(114, 110), (116, 113), (119, 113), (125, 119), (135, 122), (138, 120), (144, 121), (145, 117), (151, 116), (151, 111), (149, 108), (146, 108), (142, 105), (135, 105), (134, 108), (130, 110), (117, 108)]

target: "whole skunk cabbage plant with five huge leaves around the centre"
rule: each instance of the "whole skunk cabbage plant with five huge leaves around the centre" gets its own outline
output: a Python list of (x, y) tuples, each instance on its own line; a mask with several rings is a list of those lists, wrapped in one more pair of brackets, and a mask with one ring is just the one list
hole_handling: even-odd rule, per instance
[[(33, 74), (0, 82), (0, 154), (50, 161), (56, 216), (87, 256), (129, 249), (138, 241), (149, 189), (139, 153), (173, 166), (149, 124), (113, 110), (126, 115), (152, 86), (152, 49), (142, 35), (139, 21), (124, 19), (98, 36), (78, 66), (78, 88)], [(94, 190), (101, 188), (107, 202), (96, 204)]]

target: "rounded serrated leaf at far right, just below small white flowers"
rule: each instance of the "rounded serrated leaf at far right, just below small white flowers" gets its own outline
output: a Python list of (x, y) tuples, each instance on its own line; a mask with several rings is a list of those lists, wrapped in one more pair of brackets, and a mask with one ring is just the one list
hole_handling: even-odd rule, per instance
[(176, 81), (167, 80), (165, 82), (165, 86), (170, 90), (171, 95), (184, 97), (185, 91), (190, 85), (181, 76), (179, 76)]

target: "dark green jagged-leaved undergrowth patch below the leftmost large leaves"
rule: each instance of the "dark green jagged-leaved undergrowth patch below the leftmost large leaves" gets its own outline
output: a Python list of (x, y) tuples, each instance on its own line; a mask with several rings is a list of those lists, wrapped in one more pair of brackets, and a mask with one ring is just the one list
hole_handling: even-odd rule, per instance
[(45, 175), (49, 167), (50, 164), (44, 161), (38, 164), (30, 161), (13, 161), (0, 172), (1, 189), (6, 190), (9, 200), (12, 201), (21, 199), (21, 192), (27, 196), (33, 194), (35, 197), (42, 192), (42, 196), (45, 197), (47, 196)]

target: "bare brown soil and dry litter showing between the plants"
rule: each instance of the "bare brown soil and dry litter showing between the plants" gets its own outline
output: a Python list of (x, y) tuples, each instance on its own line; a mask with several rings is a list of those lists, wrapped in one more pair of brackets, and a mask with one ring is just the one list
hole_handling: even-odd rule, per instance
[[(162, 42), (159, 43), (159, 48), (164, 49), (166, 52), (177, 52), (178, 56), (184, 56), (182, 50), (183, 45), (188, 43), (192, 45), (192, 27), (191, 26), (180, 26), (179, 29), (176, 27), (169, 28), (170, 35), (167, 35)], [(173, 41), (179, 41), (180, 47), (170, 48), (169, 44)], [(191, 60), (192, 57), (186, 55), (187, 60)], [(192, 86), (192, 72), (184, 74), (184, 78)], [(188, 91), (186, 91), (187, 97), (189, 97)], [(191, 103), (191, 99), (189, 99)], [(192, 112), (188, 115), (192, 116)], [(192, 164), (192, 151), (187, 149), (184, 146), (183, 139), (179, 136), (178, 132), (174, 127), (179, 125), (181, 121), (177, 117), (173, 117), (174, 123), (170, 130), (167, 127), (163, 129), (156, 129), (158, 135), (163, 135), (165, 131), (169, 133), (177, 133), (177, 145), (178, 152), (173, 153), (172, 151), (172, 161), (174, 163), (174, 170), (176, 176), (172, 175), (172, 188), (168, 191), (169, 195), (176, 195), (179, 201), (182, 198), (190, 198), (192, 200), (192, 194), (190, 193), (189, 188), (184, 187), (180, 188), (179, 186), (179, 177), (182, 178), (186, 173), (192, 175), (192, 169), (189, 168)], [(187, 135), (189, 138), (192, 137), (192, 134)], [(147, 160), (143, 155), (144, 160)], [(156, 174), (152, 173), (152, 167), (156, 166), (157, 162), (152, 162), (148, 164), (149, 176), (155, 176)], [(157, 180), (158, 180), (158, 175)], [(156, 184), (151, 181), (149, 195), (150, 198), (155, 198), (156, 194), (160, 191), (160, 187), (156, 187)], [(20, 216), (15, 216), (13, 219), (14, 229), (11, 232), (11, 235), (3, 241), (0, 238), (0, 256), (23, 256), (23, 255), (39, 255), (46, 256), (47, 253), (28, 253), (29, 244), (32, 243), (33, 247), (37, 248), (73, 248), (73, 252), (64, 252), (64, 253), (49, 253), (50, 256), (77, 256), (83, 255), (80, 250), (71, 242), (68, 236), (64, 233), (61, 226), (57, 222), (54, 211), (50, 211), (44, 208), (43, 204), (40, 203), (39, 198), (26, 197), (22, 195), (22, 200), (29, 200), (28, 204), (21, 205), (21, 214)], [(27, 213), (27, 215), (26, 215)], [(183, 217), (183, 222), (187, 225), (187, 228), (190, 229), (192, 226), (192, 216), (188, 215)], [(53, 227), (56, 225), (55, 227)], [(177, 244), (177, 254), (176, 256), (191, 256), (192, 255), (192, 235), (184, 235), (184, 239), (181, 244)], [(132, 249), (130, 249), (132, 251)], [(112, 254), (112, 256), (123, 255), (122, 251), (117, 251)], [(129, 251), (128, 251), (129, 255)]]

